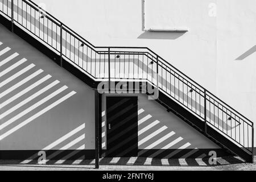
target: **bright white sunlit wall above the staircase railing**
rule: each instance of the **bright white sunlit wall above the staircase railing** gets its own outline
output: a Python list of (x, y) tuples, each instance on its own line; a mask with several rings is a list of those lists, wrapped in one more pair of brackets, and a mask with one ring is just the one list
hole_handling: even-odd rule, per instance
[[(254, 0), (34, 0), (96, 46), (146, 46), (256, 121)], [(64, 13), (65, 12), (65, 13)]]

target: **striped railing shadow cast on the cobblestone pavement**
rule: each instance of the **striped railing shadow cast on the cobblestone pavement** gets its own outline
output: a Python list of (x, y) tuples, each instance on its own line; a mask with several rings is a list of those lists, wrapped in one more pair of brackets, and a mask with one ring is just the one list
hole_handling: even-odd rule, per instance
[[(102, 158), (100, 159), (101, 166), (191, 166), (191, 167), (199, 167), (199, 166), (226, 166), (230, 164), (242, 164), (244, 163), (242, 160), (234, 158), (232, 156), (218, 158), (217, 164), (209, 164), (209, 159), (152, 159), (152, 158), (135, 158), (131, 160), (131, 158)], [(31, 160), (30, 162), (24, 164), (22, 160), (0, 160), (0, 166), (38, 166), (37, 160)], [(65, 160), (65, 161), (57, 161), (57, 160), (49, 160), (46, 163), (46, 166), (49, 167), (75, 167), (75, 166), (84, 166), (85, 168), (94, 168), (95, 160)], [(40, 167), (44, 167), (41, 165)]]

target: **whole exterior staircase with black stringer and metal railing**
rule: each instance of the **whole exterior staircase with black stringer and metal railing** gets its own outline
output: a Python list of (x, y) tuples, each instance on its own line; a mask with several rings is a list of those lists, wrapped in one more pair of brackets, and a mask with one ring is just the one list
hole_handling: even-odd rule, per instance
[(167, 111), (253, 162), (254, 123), (151, 49), (93, 46), (29, 0), (1, 1), (0, 23), (93, 89), (102, 81), (115, 86), (120, 81), (139, 83), (139, 91), (149, 96), (144, 85), (157, 89), (155, 100)]

